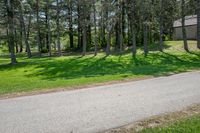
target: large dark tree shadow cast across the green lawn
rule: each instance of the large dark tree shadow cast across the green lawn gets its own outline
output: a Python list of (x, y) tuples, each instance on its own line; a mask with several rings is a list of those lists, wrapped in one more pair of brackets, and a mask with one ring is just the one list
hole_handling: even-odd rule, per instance
[(72, 58), (31, 59), (27, 63), (16, 66), (0, 65), (0, 71), (33, 67), (26, 77), (41, 77), (43, 80), (78, 79), (102, 77), (106, 75), (168, 75), (171, 72), (183, 72), (200, 68), (198, 55), (182, 54), (176, 56), (169, 53), (151, 53), (147, 57), (138, 56), (102, 56)]

